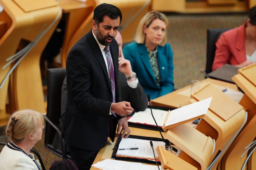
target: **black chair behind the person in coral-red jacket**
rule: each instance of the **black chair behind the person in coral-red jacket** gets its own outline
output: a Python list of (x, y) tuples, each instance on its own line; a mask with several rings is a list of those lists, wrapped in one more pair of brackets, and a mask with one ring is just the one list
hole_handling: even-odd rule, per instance
[(216, 50), (215, 43), (219, 39), (220, 35), (227, 30), (230, 30), (230, 28), (207, 29), (206, 67), (205, 70), (202, 70), (204, 76), (207, 78), (209, 77), (207, 74), (212, 72), (212, 65)]

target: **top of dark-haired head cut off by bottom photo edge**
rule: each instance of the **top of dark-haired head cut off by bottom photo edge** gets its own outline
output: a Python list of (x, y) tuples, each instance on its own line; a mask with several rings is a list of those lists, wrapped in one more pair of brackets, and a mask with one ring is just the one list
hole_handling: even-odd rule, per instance
[(75, 163), (69, 159), (55, 160), (49, 170), (79, 170)]

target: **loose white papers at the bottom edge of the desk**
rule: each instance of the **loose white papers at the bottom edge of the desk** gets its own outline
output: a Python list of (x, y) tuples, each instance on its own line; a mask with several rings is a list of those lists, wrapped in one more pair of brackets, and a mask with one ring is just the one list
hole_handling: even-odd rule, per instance
[(92, 166), (104, 170), (158, 170), (157, 166), (154, 165), (145, 165), (141, 163), (117, 161), (112, 159), (105, 159), (93, 164)]

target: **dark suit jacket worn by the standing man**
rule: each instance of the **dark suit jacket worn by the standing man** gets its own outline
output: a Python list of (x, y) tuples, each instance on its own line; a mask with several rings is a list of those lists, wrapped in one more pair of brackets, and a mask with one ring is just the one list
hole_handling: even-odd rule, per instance
[[(118, 91), (118, 45), (110, 44), (116, 87)], [(98, 151), (109, 137), (114, 141), (117, 121), (109, 116), (113, 100), (107, 68), (92, 30), (82, 37), (70, 50), (67, 69), (67, 108), (62, 126), (66, 144), (89, 151)], [(109, 124), (109, 120), (112, 124)], [(115, 130), (113, 130), (115, 129)]]

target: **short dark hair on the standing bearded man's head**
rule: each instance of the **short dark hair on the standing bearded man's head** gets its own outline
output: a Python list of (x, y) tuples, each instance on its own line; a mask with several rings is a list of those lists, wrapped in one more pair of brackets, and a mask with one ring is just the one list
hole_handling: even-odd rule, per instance
[(119, 16), (120, 24), (122, 22), (122, 12), (114, 5), (103, 3), (94, 9), (93, 20), (95, 20), (97, 25), (103, 22), (104, 15), (107, 15), (111, 19), (117, 19)]

